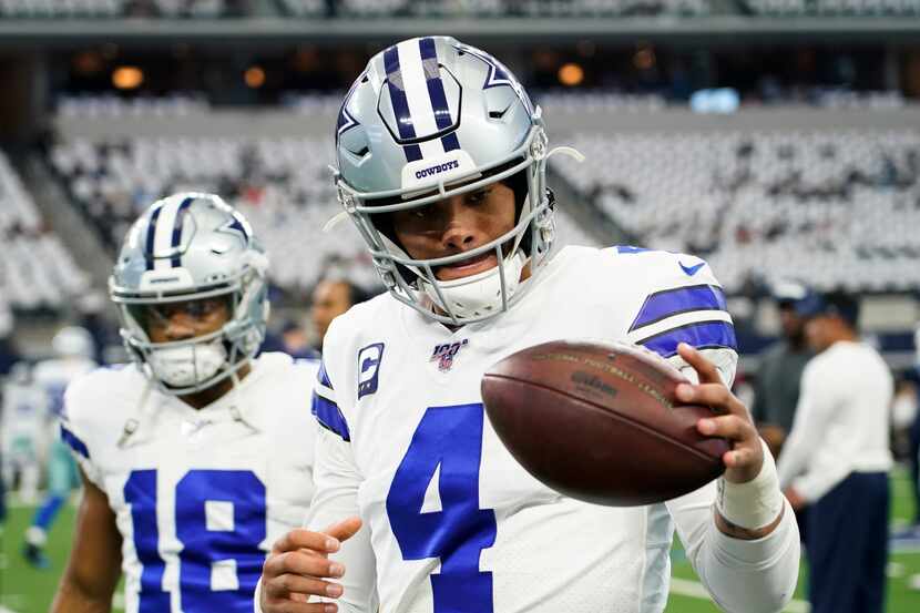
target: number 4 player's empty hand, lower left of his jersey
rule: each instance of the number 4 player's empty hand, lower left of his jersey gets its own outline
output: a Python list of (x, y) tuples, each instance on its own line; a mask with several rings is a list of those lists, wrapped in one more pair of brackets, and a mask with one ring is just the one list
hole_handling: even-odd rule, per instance
[(345, 566), (329, 560), (329, 554), (360, 528), (360, 519), (348, 518), (323, 532), (298, 529), (278, 539), (262, 568), (263, 613), (335, 613), (336, 604), (308, 601), (341, 596), (341, 585), (327, 580), (345, 575)]

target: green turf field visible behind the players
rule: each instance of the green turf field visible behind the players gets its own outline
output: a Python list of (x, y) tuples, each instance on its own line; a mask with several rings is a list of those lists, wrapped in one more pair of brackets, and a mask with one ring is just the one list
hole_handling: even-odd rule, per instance
[[(910, 517), (908, 482), (902, 472), (893, 478), (892, 525), (902, 525)], [(22, 533), (31, 519), (32, 510), (13, 504), (2, 532), (0, 553), (0, 613), (44, 613), (53, 597), (58, 578), (64, 566), (74, 522), (74, 508), (67, 507), (49, 535), (51, 569), (37, 571), (20, 556)], [(679, 544), (674, 552), (674, 581), (666, 613), (717, 613), (719, 610), (706, 596), (696, 574), (684, 559)], [(808, 610), (803, 565), (796, 597), (786, 611)], [(889, 563), (888, 613), (920, 612), (920, 591), (911, 590), (912, 575), (920, 575), (920, 548), (912, 551), (893, 551)], [(920, 581), (920, 578), (918, 578)], [(120, 610), (121, 599), (115, 599), (114, 611)], [(6, 607), (6, 609), (4, 609)]]

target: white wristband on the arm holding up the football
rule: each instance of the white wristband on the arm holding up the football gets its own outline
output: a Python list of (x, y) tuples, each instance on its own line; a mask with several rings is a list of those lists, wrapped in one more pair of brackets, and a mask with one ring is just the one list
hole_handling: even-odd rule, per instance
[(783, 510), (783, 492), (776, 462), (764, 439), (764, 464), (760, 472), (746, 483), (732, 483), (725, 477), (718, 480), (716, 509), (729, 523), (746, 530), (757, 530), (771, 524)]

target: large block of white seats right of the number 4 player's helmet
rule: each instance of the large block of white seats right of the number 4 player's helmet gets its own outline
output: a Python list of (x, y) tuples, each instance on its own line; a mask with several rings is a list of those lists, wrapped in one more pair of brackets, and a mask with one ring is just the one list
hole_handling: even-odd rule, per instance
[(637, 244), (706, 256), (729, 292), (920, 286), (920, 132), (587, 134), (559, 168)]

